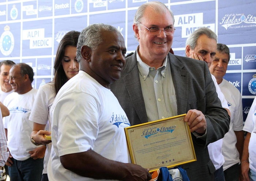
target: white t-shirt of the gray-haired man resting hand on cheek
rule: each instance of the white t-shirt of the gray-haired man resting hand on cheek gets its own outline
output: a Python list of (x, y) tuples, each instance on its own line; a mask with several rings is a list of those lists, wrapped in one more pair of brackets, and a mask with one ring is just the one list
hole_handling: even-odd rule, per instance
[[(227, 105), (227, 101), (226, 101), (223, 93), (221, 92), (221, 89), (218, 86), (216, 78), (213, 75), (211, 75), (211, 78), (216, 87), (216, 92), (218, 94), (218, 98), (221, 100), (222, 107), (229, 109), (229, 106)], [(222, 150), (221, 150), (222, 142), (223, 142), (223, 140), (219, 139), (216, 142), (208, 144), (209, 156), (210, 156), (210, 159), (211, 159), (212, 163), (214, 164), (216, 170), (218, 170), (225, 162), (224, 156), (222, 155)]]

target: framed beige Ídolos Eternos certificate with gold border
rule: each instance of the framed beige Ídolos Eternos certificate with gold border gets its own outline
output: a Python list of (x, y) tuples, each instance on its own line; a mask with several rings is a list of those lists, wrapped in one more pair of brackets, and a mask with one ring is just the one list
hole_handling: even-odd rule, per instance
[(196, 161), (186, 114), (125, 128), (131, 161), (153, 172)]

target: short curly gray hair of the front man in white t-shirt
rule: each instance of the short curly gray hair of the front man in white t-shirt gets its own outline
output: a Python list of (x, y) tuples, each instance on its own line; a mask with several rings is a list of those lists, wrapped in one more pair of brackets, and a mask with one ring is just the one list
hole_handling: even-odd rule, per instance
[(99, 44), (103, 41), (102, 31), (104, 30), (120, 33), (116, 27), (103, 23), (91, 24), (81, 31), (76, 47), (76, 59), (78, 62), (82, 60), (81, 48), (83, 45), (90, 47), (92, 50), (98, 49)]

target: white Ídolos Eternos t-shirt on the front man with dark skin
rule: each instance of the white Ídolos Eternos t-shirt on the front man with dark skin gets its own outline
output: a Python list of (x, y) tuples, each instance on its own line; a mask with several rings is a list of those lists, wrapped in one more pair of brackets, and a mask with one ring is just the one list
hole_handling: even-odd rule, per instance
[(128, 163), (124, 127), (130, 126), (117, 98), (86, 72), (79, 71), (61, 87), (50, 110), (52, 150), (48, 163), (51, 181), (91, 181), (64, 169), (60, 156), (89, 149), (110, 160)]

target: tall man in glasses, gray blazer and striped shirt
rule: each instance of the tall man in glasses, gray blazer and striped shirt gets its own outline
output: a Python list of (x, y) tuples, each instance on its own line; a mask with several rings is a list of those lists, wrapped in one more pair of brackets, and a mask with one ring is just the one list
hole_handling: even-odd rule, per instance
[(133, 30), (139, 46), (126, 59), (121, 78), (111, 90), (131, 125), (187, 113), (184, 120), (191, 131), (197, 161), (182, 167), (190, 181), (213, 181), (215, 168), (207, 145), (224, 137), (230, 117), (217, 97), (207, 64), (169, 53), (174, 16), (163, 3), (141, 5)]

